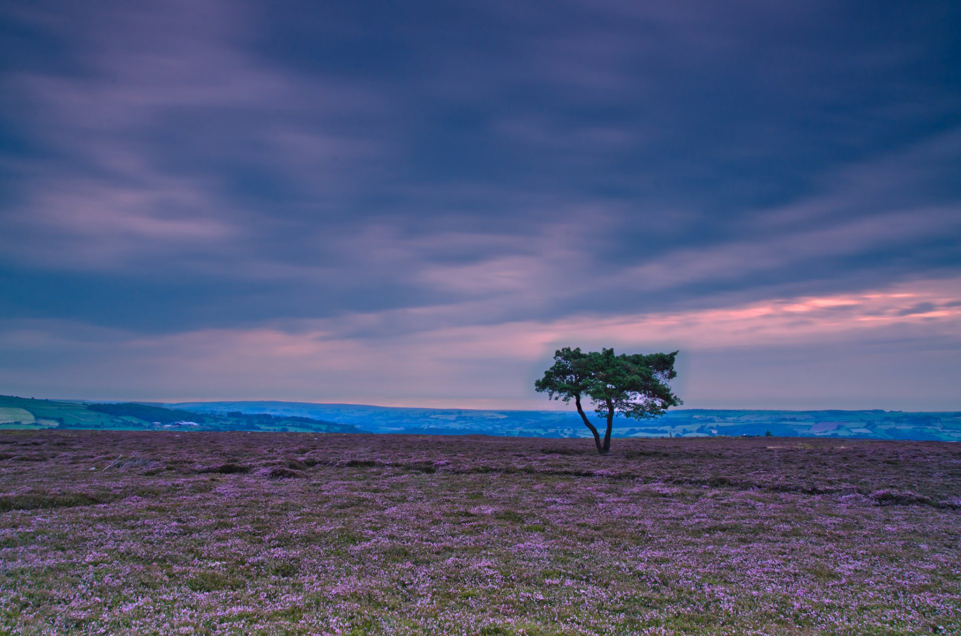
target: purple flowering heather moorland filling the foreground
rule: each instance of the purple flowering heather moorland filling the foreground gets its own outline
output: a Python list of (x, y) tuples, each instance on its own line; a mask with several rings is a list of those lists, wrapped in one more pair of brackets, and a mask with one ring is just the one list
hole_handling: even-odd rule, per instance
[(13, 633), (961, 632), (961, 447), (0, 431)]

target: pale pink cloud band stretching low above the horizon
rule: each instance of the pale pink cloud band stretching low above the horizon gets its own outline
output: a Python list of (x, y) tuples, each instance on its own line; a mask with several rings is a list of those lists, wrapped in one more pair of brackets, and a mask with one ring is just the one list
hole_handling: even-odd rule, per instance
[[(846, 345), (874, 348), (867, 359), (891, 365), (899, 356), (935, 357), (961, 343), (961, 280), (912, 281), (858, 294), (776, 298), (744, 306), (633, 315), (581, 315), (554, 321), (466, 325), (435, 312), (395, 310), (383, 315), (304, 320), (250, 329), (208, 329), (142, 336), (75, 323), (8, 324), (0, 351), (12, 366), (0, 369), (6, 385), (26, 387), (43, 375), (58, 391), (105, 399), (195, 400), (273, 398), (394, 405), (542, 407), (531, 382), (555, 348), (582, 346), (618, 351), (681, 349), (681, 387), (688, 405), (758, 404), (767, 400), (752, 385), (758, 374), (830, 389), (845, 379), (833, 370)], [(921, 310), (919, 311), (919, 307)], [(440, 315), (437, 315), (440, 314)], [(462, 317), (461, 317), (462, 318)], [(407, 329), (366, 330), (359, 325)], [(444, 324), (445, 321), (447, 324)], [(847, 347), (850, 350), (850, 346)], [(815, 357), (807, 351), (840, 351)], [(902, 350), (904, 353), (901, 353)], [(758, 366), (758, 357), (780, 352), (796, 368)], [(56, 359), (56, 367), (50, 366)], [(727, 360), (741, 384), (727, 377), (699, 377), (704, 367)], [(28, 362), (33, 360), (33, 362)], [(39, 362), (37, 362), (39, 361)], [(10, 363), (8, 363), (10, 364)], [(766, 363), (768, 364), (768, 363)], [(957, 369), (949, 363), (947, 369)], [(916, 369), (913, 383), (944, 384), (945, 364)], [(846, 362), (846, 373), (851, 370)], [(956, 364), (955, 364), (956, 367)], [(856, 365), (854, 366), (856, 369)], [(953, 371), (951, 371), (953, 369)], [(687, 372), (693, 378), (687, 378)], [(919, 375), (920, 374), (920, 375)], [(884, 375), (884, 374), (882, 374)], [(876, 370), (869, 376), (877, 376)], [(697, 379), (697, 381), (695, 381)], [(902, 379), (886, 375), (860, 387), (861, 404), (891, 404)], [(725, 392), (717, 389), (726, 387)], [(70, 387), (75, 387), (71, 389)], [(122, 387), (106, 390), (104, 387)], [(51, 390), (53, 390), (51, 388)], [(63, 394), (65, 395), (65, 394)], [(919, 394), (920, 395), (920, 394)], [(803, 403), (802, 396), (797, 396)], [(949, 398), (942, 400), (946, 406)], [(816, 406), (810, 402), (809, 406)], [(870, 405), (870, 404), (869, 404)]]

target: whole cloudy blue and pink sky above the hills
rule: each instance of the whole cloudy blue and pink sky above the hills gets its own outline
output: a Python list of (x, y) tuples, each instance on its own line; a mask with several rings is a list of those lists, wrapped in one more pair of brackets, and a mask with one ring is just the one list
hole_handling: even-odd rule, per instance
[(0, 394), (961, 410), (961, 4), (0, 2)]

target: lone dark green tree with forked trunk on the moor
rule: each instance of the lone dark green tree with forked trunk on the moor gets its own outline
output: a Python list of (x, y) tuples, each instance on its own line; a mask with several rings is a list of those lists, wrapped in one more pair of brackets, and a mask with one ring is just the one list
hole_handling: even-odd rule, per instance
[[(584, 426), (594, 434), (598, 453), (607, 454), (615, 415), (643, 420), (683, 404), (667, 384), (678, 376), (674, 370), (677, 355), (678, 352), (614, 355), (613, 349), (582, 353), (580, 348), (564, 347), (554, 353), (554, 366), (534, 382), (534, 388), (547, 393), (552, 400), (574, 400)], [(604, 441), (584, 413), (580, 403), (583, 396), (591, 399), (595, 412), (607, 422)]]

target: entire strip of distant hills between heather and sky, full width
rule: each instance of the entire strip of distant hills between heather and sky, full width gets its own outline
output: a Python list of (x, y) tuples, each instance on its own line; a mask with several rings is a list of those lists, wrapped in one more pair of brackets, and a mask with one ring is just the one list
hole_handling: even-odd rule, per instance
[[(434, 435), (587, 437), (573, 411), (402, 408), (298, 402), (97, 403), (0, 396), (0, 428), (287, 430)], [(961, 412), (676, 409), (617, 437), (772, 435), (961, 441)]]

